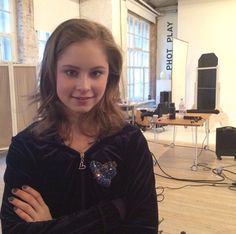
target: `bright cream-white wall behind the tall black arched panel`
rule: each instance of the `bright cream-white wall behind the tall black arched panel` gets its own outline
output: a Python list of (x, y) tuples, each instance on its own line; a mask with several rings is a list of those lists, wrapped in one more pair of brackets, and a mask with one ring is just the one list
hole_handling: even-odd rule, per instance
[(186, 104), (194, 104), (196, 68), (201, 54), (218, 57), (219, 108), (236, 126), (236, 1), (179, 0), (178, 38), (189, 43), (186, 68)]

